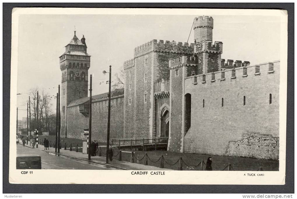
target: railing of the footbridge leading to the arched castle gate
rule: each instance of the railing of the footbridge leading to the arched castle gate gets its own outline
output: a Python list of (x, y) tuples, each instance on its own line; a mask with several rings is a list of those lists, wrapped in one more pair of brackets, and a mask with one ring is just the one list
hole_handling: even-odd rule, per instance
[(169, 137), (141, 137), (141, 138), (112, 138), (112, 145), (145, 145), (145, 144), (158, 144), (158, 143), (168, 143)]

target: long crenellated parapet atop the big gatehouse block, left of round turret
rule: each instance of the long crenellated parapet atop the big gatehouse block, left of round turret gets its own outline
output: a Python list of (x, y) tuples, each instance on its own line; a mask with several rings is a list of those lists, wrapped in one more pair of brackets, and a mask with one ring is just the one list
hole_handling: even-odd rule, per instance
[(164, 53), (177, 53), (177, 54), (192, 54), (194, 49), (194, 44), (182, 43), (176, 41), (164, 41), (153, 39), (145, 44), (137, 46), (134, 49), (134, 57), (140, 57), (142, 55), (151, 52), (164, 52)]

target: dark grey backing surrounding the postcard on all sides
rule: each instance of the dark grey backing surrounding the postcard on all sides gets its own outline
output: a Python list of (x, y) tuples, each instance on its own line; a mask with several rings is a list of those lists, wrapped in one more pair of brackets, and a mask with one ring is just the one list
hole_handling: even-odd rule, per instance
[[(288, 12), (285, 185), (10, 184), (10, 61), (13, 7), (142, 7), (286, 9)], [(294, 193), (294, 3), (3, 3), (3, 193)], [(44, 176), (43, 176), (44, 177)], [(100, 176), (95, 176), (100, 178)]]

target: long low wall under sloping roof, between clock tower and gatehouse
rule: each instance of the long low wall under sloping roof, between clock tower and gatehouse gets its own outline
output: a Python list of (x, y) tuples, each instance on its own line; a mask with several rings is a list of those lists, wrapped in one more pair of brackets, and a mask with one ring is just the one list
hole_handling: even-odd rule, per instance
[[(123, 137), (124, 96), (111, 99), (110, 104), (110, 139)], [(87, 102), (88, 103), (88, 102)], [(108, 100), (92, 103), (92, 140), (106, 142)], [(89, 128), (89, 118), (79, 113), (79, 106), (67, 107), (67, 137), (87, 139), (83, 129)]]

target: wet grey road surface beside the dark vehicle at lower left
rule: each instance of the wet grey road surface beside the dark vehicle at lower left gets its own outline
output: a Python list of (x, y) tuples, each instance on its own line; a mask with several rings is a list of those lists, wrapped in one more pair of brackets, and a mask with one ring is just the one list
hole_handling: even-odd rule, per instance
[[(43, 147), (43, 146), (41, 146)], [(59, 157), (53, 153), (47, 153), (38, 149), (23, 147), (21, 144), (17, 145), (17, 154), (30, 154), (41, 156), (42, 169), (85, 169), (85, 170), (115, 170), (117, 168), (90, 163), (87, 161), (77, 160), (75, 158)]]

